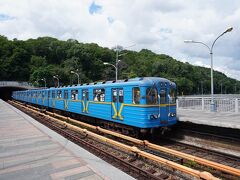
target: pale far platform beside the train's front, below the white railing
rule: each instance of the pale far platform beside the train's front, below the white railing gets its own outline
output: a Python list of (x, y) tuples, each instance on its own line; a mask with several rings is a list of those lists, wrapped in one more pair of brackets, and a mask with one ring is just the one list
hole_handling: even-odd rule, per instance
[(240, 113), (178, 109), (177, 118), (181, 122), (240, 129)]

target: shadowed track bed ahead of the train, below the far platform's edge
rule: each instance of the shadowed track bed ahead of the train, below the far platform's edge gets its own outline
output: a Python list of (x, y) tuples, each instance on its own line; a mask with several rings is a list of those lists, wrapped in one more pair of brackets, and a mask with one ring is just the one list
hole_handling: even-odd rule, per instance
[[(184, 126), (186, 125), (186, 126)], [(182, 123), (174, 126), (174, 133), (165, 134), (167, 140), (199, 147), (199, 149), (217, 151), (229, 156), (240, 157), (240, 130), (206, 125)]]

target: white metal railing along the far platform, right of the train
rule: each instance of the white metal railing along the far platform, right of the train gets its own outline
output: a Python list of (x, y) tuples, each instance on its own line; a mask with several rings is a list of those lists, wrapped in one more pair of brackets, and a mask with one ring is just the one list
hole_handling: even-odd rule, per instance
[[(240, 113), (240, 97), (214, 97), (217, 112)], [(178, 97), (178, 109), (210, 111), (211, 97)]]

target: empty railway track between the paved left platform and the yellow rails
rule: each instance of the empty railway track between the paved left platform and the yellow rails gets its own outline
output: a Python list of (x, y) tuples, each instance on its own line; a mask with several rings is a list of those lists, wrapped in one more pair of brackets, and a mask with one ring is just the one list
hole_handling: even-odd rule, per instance
[[(19, 105), (14, 105), (19, 108)], [(119, 148), (116, 149), (116, 147), (112, 147), (107, 144), (106, 141), (101, 142), (95, 138), (89, 137), (87, 134), (76, 133), (76, 131), (66, 128), (66, 126), (59, 121), (53, 121), (47, 117), (43, 118), (39, 114), (32, 114), (29, 109), (27, 110), (22, 108), (20, 108), (20, 110), (23, 110), (25, 113), (31, 115), (40, 123), (53, 129), (74, 143), (84, 147), (88, 151), (96, 154), (105, 161), (115, 165), (137, 179), (191, 179), (192, 177), (181, 175), (181, 173), (176, 171), (174, 172), (171, 168), (167, 169), (167, 166), (159, 170), (159, 167), (154, 167), (154, 165), (146, 163), (144, 159), (136, 157), (135, 153), (129, 153)], [(167, 173), (167, 171), (170, 172)], [(179, 173), (179, 177), (177, 176), (177, 173)]]

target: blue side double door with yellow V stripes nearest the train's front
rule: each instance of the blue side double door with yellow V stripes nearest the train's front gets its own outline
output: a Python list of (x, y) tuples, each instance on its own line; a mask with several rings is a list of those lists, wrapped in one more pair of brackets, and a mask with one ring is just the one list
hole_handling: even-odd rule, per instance
[(123, 88), (112, 89), (112, 119), (123, 120), (122, 110), (124, 103)]

